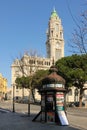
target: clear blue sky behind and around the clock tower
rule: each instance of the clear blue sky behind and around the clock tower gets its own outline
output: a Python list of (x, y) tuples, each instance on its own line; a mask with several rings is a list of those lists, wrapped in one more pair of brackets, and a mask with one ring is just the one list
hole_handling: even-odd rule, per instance
[[(65, 56), (76, 27), (72, 15), (80, 17), (87, 0), (0, 0), (0, 73), (11, 86), (11, 65), (19, 55), (35, 50), (46, 57), (46, 30), (54, 7), (62, 20)], [(69, 8), (68, 8), (69, 7)]]

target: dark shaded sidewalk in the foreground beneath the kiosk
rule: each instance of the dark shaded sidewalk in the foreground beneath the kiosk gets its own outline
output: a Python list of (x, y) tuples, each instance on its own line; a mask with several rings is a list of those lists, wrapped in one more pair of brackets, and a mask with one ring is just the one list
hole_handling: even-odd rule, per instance
[(71, 126), (32, 122), (35, 114), (30, 117), (24, 114), (2, 111), (0, 109), (0, 130), (81, 130)]

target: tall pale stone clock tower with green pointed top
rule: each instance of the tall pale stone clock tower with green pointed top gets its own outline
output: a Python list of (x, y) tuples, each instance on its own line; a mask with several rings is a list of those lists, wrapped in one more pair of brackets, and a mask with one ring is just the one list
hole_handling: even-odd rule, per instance
[(47, 58), (54, 58), (56, 62), (58, 59), (64, 57), (64, 38), (61, 19), (55, 9), (51, 13), (46, 34)]

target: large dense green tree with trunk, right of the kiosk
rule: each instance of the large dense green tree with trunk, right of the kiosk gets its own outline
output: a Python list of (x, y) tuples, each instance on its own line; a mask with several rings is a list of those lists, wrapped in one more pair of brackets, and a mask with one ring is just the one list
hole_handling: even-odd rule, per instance
[(87, 81), (87, 54), (64, 57), (56, 62), (58, 73), (66, 80), (67, 90), (73, 85), (80, 89), (79, 106), (82, 105), (84, 84)]

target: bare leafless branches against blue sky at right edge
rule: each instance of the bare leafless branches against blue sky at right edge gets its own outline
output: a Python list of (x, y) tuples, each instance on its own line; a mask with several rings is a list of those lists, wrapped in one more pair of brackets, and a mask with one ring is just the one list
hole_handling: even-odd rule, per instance
[[(73, 18), (74, 19), (74, 18)], [(87, 11), (81, 14), (79, 21), (74, 19), (76, 28), (72, 33), (70, 46), (75, 54), (87, 54)]]

